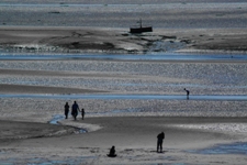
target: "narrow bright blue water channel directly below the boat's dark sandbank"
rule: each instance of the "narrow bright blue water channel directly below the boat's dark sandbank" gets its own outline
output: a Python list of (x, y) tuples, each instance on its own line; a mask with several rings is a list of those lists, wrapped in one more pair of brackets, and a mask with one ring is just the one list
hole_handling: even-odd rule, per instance
[(247, 61), (246, 55), (237, 55), (237, 54), (145, 54), (145, 55), (111, 55), (111, 54), (90, 54), (90, 55), (75, 55), (75, 54), (64, 54), (64, 55), (20, 55), (20, 54), (1, 54), (0, 59), (4, 61), (48, 61), (48, 59), (108, 59), (108, 61), (211, 61), (211, 62), (217, 62), (217, 61), (227, 61), (227, 62), (245, 62)]

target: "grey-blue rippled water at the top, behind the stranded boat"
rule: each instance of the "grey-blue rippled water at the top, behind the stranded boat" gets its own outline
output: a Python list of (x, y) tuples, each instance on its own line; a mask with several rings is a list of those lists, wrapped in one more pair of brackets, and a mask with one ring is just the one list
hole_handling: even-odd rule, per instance
[[(91, 1), (90, 1), (91, 2)], [(135, 25), (139, 18), (154, 28), (246, 28), (246, 1), (2, 2), (0, 24), (34, 26)], [(114, 4), (112, 4), (114, 3)], [(165, 16), (164, 16), (165, 15)]]

